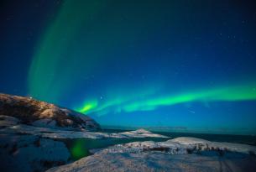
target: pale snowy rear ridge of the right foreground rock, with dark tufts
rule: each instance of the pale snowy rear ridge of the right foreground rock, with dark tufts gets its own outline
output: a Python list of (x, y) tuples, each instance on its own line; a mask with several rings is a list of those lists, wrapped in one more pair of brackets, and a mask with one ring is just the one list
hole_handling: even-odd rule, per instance
[[(167, 154), (192, 154), (201, 151), (215, 151), (224, 154), (231, 151), (242, 154), (256, 154), (256, 147), (241, 143), (210, 142), (201, 138), (180, 137), (165, 142), (133, 142), (117, 144), (107, 149), (99, 149), (104, 153), (142, 153), (159, 151)], [(95, 151), (94, 151), (95, 152)]]

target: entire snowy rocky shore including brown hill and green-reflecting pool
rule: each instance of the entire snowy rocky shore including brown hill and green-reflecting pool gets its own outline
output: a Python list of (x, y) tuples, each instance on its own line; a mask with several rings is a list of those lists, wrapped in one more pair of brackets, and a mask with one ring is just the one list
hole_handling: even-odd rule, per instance
[(0, 94), (1, 171), (255, 171), (255, 154), (245, 143), (112, 133), (79, 112)]

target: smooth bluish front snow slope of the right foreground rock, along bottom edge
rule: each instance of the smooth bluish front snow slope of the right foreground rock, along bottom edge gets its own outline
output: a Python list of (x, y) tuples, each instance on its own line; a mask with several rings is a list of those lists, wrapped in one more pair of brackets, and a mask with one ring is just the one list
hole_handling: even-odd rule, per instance
[(180, 172), (254, 172), (256, 159), (246, 154), (218, 155), (163, 154), (159, 152), (100, 153), (77, 160), (71, 164), (48, 169), (47, 172), (123, 172), (123, 171), (180, 171)]

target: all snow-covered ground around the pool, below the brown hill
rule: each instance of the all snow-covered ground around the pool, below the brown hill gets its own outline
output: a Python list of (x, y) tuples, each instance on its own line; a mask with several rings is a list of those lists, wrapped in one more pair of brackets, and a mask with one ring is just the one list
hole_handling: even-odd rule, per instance
[(71, 161), (70, 150), (55, 138), (167, 138), (144, 129), (100, 133), (41, 128), (0, 116), (1, 171), (255, 171), (256, 147), (210, 142), (200, 138), (174, 138), (165, 142), (133, 142)]

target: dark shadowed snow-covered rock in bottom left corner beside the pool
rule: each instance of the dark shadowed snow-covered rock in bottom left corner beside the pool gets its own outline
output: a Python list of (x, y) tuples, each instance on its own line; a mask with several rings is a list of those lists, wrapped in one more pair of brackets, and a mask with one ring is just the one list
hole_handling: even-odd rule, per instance
[(34, 135), (0, 134), (1, 171), (44, 171), (66, 164), (70, 157), (64, 143)]

